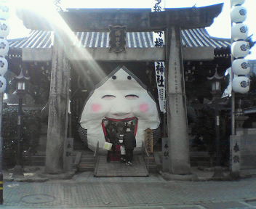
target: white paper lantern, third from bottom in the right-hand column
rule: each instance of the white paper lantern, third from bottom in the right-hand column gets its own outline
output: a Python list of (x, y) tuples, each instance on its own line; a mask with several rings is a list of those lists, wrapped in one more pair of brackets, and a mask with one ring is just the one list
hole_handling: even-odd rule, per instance
[(247, 41), (235, 41), (231, 45), (231, 53), (235, 58), (245, 57), (249, 54), (249, 43)]

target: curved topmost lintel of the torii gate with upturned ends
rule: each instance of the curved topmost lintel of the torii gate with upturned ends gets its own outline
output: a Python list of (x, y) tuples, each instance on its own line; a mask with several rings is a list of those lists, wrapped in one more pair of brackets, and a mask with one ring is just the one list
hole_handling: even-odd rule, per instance
[[(127, 31), (164, 30), (170, 25), (180, 28), (204, 28), (212, 24), (220, 14), (223, 4), (207, 7), (166, 9), (151, 12), (151, 9), (69, 9), (60, 12), (73, 31), (108, 31), (109, 25), (125, 25)], [(33, 30), (54, 30), (59, 25), (36, 12), (20, 9), (17, 16), (26, 28)]]

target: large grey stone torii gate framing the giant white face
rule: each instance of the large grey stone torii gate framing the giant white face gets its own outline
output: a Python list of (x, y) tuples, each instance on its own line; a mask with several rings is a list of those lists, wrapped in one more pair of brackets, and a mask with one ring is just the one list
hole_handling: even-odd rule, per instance
[[(149, 9), (78, 9), (59, 12), (69, 28), (76, 32), (108, 31), (109, 25), (125, 25), (127, 31), (163, 31), (165, 32), (164, 51), (146, 49), (141, 59), (132, 49), (126, 53), (104, 52), (107, 60), (156, 61), (166, 62), (167, 81), (167, 127), (169, 142), (169, 173), (186, 175), (191, 173), (189, 144), (187, 136), (187, 114), (185, 85), (183, 75), (183, 48), (181, 29), (204, 28), (212, 25), (213, 19), (220, 14), (223, 4), (208, 7), (165, 9), (164, 12), (151, 12)], [(83, 57), (81, 49), (73, 46), (68, 33), (59, 25), (52, 24), (44, 17), (29, 11), (19, 11), (18, 15), (26, 28), (33, 30), (53, 30), (55, 42), (52, 50), (52, 75), (49, 94), (49, 121), (47, 135), (46, 172), (64, 172), (64, 144), (67, 139), (69, 80), (73, 60), (92, 60), (94, 52), (87, 52), (91, 58)], [(31, 21), (33, 20), (33, 21)], [(65, 43), (65, 45), (63, 44)], [(72, 47), (71, 47), (72, 46)], [(154, 53), (156, 52), (156, 56)], [(96, 56), (95, 56), (96, 57)], [(153, 58), (155, 57), (155, 58)], [(154, 60), (155, 59), (155, 60)], [(97, 61), (97, 60), (96, 60)]]

